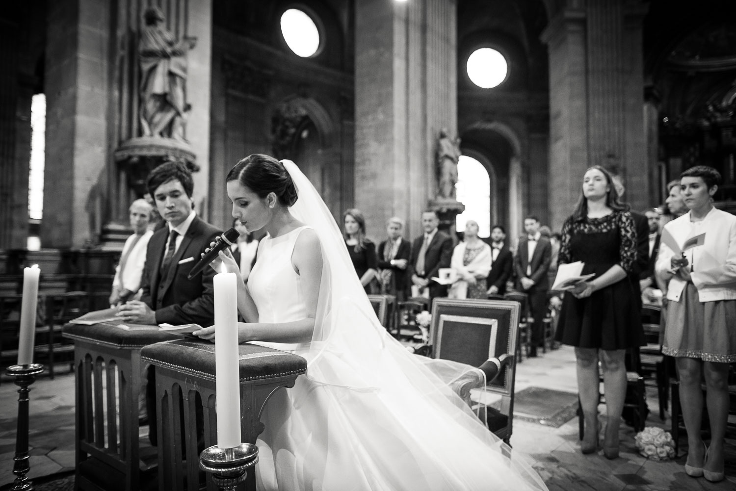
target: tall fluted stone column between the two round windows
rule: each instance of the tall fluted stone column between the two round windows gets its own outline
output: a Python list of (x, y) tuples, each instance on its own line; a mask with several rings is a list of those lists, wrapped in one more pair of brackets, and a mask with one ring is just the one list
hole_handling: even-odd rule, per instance
[(454, 1), (355, 4), (355, 206), (369, 236), (396, 215), (411, 237), (435, 197), (439, 130), (457, 135), (456, 38)]

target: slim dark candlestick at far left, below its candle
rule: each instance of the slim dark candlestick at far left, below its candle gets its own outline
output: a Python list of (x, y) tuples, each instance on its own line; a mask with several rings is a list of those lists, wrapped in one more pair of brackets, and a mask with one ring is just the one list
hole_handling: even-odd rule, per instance
[(33, 486), (26, 478), (31, 470), (28, 462), (28, 392), (29, 386), (36, 380), (36, 375), (43, 372), (43, 365), (32, 363), (28, 365), (11, 365), (7, 367), (7, 374), (13, 377), (18, 389), (18, 430), (15, 433), (15, 456), (13, 457), (13, 491), (31, 491)]

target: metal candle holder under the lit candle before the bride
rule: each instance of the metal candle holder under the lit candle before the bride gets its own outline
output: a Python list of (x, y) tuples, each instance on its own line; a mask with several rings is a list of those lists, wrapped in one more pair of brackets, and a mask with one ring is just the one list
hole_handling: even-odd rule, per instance
[(199, 454), (199, 468), (212, 473), (212, 480), (222, 491), (235, 490), (256, 462), (258, 447), (252, 443), (241, 443), (234, 448), (213, 445)]

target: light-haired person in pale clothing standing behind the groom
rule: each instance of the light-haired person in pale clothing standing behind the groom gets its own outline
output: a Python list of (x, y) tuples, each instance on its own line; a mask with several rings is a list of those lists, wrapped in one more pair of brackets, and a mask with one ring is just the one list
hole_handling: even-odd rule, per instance
[(113, 292), (110, 294), (110, 305), (113, 307), (131, 300), (141, 289), (146, 247), (153, 235), (152, 230), (148, 230), (152, 210), (145, 199), (136, 199), (130, 205), (128, 216), (133, 234), (125, 241), (120, 263), (115, 268)]

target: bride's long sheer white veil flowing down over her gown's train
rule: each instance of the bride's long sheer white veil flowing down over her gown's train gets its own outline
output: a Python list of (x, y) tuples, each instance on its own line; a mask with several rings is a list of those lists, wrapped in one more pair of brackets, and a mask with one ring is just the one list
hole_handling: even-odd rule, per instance
[[(298, 352), (308, 360), (309, 390), (328, 406), (320, 421), (339, 434), (311, 445), (325, 453), (311, 462), (357, 467), (372, 490), (546, 490), (447, 385), (447, 373), (474, 367), (409, 353), (381, 326), (332, 213), (297, 165), (281, 162), (299, 195), (291, 213), (316, 231), (325, 264), (312, 342)], [(350, 456), (330, 455), (344, 440)]]

